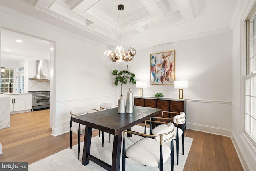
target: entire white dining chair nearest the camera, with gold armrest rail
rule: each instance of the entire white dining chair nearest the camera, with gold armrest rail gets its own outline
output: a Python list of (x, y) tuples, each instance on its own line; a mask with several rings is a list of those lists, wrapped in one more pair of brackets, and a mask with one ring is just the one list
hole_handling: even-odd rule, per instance
[[(145, 127), (146, 122), (145, 121)], [(150, 121), (154, 122), (154, 121)], [(163, 171), (164, 163), (171, 155), (171, 171), (174, 167), (173, 157), (173, 139), (174, 139), (174, 124), (164, 123), (166, 127), (155, 129), (154, 135), (142, 134), (133, 131), (124, 131), (135, 135), (144, 136), (144, 138), (132, 144), (126, 149), (125, 147), (125, 135), (123, 133), (123, 149), (122, 149), (122, 170), (125, 171), (126, 158), (132, 159), (145, 166), (158, 167), (160, 171)], [(153, 137), (153, 138), (152, 138)], [(132, 138), (132, 137), (131, 137)], [(155, 138), (155, 139), (154, 139)], [(171, 142), (171, 147), (164, 142)]]

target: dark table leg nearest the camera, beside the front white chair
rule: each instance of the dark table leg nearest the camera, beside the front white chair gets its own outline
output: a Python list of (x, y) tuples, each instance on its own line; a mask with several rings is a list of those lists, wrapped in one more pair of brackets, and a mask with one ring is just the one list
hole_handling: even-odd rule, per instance
[(112, 151), (112, 171), (119, 171), (121, 157), (122, 133), (114, 136), (113, 151)]

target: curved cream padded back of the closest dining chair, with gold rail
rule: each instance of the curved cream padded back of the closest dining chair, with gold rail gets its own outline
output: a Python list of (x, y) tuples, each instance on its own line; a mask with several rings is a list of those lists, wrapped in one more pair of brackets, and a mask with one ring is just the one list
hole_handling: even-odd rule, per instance
[[(172, 122), (169, 122), (166, 127), (159, 127), (160, 129), (155, 128), (154, 135), (169, 133), (167, 135), (162, 136), (162, 142), (168, 142), (171, 141), (174, 137), (174, 125)], [(160, 136), (156, 137), (156, 141), (160, 142)]]

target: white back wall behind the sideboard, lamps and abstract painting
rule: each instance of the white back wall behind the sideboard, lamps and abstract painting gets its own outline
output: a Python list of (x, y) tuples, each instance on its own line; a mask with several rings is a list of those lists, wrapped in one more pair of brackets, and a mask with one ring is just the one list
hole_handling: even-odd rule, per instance
[[(231, 135), (232, 117), (232, 32), (194, 38), (137, 50), (134, 60), (124, 62), (136, 74), (137, 81), (146, 81), (143, 95), (178, 98), (174, 85), (150, 85), (150, 54), (175, 50), (176, 80), (188, 80), (184, 89), (187, 99), (187, 128), (220, 135)], [(125, 85), (124, 92), (135, 85)]]

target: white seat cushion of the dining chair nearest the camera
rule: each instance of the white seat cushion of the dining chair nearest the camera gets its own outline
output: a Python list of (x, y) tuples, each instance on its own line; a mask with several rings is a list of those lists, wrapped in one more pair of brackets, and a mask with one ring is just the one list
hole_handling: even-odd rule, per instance
[[(162, 144), (163, 162), (165, 163), (171, 154), (171, 149), (166, 144)], [(160, 143), (152, 138), (142, 138), (128, 149), (126, 156), (143, 165), (158, 167), (160, 157)]]

